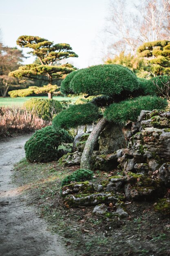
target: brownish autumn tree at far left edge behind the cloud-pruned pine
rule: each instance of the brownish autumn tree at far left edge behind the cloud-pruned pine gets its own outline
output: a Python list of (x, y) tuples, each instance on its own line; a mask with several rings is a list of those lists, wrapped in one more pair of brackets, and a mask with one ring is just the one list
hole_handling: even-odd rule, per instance
[(19, 80), (9, 76), (9, 72), (18, 69), (24, 55), (16, 47), (6, 47), (0, 43), (0, 92), (2, 97), (7, 96), (10, 86), (18, 86)]

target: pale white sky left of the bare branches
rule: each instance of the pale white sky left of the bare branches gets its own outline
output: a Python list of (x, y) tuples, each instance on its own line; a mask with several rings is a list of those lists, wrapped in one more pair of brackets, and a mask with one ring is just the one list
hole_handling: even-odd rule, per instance
[(100, 64), (107, 47), (102, 31), (108, 4), (109, 0), (0, 0), (2, 42), (15, 47), (19, 36), (40, 36), (70, 44), (79, 57), (67, 61), (77, 68)]

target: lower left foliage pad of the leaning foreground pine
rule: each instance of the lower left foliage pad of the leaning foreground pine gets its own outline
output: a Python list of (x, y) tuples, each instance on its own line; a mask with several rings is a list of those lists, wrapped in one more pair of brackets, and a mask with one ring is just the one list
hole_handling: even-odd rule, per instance
[(53, 127), (57, 128), (76, 128), (77, 126), (92, 124), (101, 117), (99, 108), (91, 103), (78, 104), (60, 112), (53, 118)]

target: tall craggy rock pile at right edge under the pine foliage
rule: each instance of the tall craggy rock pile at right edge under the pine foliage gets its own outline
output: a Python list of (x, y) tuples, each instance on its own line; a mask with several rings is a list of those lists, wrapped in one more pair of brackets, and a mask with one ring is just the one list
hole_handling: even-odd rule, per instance
[(128, 150), (118, 162), (124, 172), (151, 173), (170, 162), (170, 112), (141, 111), (135, 123), (124, 128)]

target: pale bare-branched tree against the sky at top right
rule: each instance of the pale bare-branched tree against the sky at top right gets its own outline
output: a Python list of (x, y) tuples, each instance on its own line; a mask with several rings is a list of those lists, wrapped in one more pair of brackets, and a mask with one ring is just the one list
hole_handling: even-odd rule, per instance
[(110, 0), (106, 31), (117, 38), (112, 44), (114, 52), (123, 49), (135, 55), (142, 43), (169, 39), (169, 0), (144, 0), (131, 10), (127, 0)]

